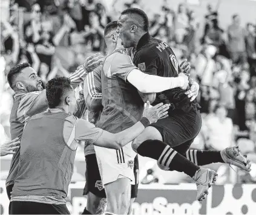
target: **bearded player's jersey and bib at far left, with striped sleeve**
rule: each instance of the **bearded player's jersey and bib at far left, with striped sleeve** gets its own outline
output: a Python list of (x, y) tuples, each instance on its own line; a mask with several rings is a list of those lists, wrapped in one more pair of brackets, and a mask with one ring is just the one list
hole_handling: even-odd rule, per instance
[[(73, 74), (68, 78), (71, 81), (71, 85), (77, 85), (77, 83), (82, 82), (87, 75), (87, 71), (83, 66), (79, 66)], [(48, 102), (46, 98), (46, 93), (44, 91), (34, 91), (34, 92), (17, 92), (14, 95), (15, 101), (11, 109), (10, 115), (10, 131), (11, 131), (11, 140), (21, 137), (24, 124), (28, 118), (32, 117), (35, 114), (41, 113), (48, 108)], [(76, 105), (80, 107), (80, 101)], [(11, 159), (11, 166), (9, 170), (8, 177), (6, 179), (6, 186), (11, 185), (15, 181), (15, 177), (18, 172), (18, 163), (19, 163), (19, 150), (16, 150), (16, 153)]]

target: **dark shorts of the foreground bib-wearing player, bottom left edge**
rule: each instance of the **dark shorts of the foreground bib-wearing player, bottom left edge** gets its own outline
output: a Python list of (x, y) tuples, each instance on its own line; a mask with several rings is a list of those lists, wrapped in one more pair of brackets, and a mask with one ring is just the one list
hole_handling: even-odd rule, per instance
[(9, 205), (9, 214), (70, 214), (70, 211), (66, 204), (13, 201)]

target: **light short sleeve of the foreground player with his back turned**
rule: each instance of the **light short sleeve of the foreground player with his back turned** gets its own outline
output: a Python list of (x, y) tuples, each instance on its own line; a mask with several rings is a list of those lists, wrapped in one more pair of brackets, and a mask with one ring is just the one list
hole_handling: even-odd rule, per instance
[(85, 141), (86, 144), (94, 144), (102, 135), (103, 130), (95, 127), (87, 120), (76, 118), (75, 139)]

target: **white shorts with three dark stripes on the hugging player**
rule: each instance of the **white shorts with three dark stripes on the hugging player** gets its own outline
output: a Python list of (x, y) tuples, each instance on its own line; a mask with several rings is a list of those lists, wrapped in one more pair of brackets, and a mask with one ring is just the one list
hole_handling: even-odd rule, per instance
[(129, 178), (134, 183), (133, 163), (137, 155), (131, 147), (131, 142), (119, 150), (94, 146), (99, 166), (102, 185), (109, 184), (119, 178)]

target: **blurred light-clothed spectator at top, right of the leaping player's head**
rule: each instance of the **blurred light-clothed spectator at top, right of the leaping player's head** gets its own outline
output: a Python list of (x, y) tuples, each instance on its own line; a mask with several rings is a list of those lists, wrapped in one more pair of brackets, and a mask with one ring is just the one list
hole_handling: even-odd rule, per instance
[(178, 13), (174, 18), (175, 38), (177, 43), (182, 43), (188, 27), (188, 13), (184, 4), (179, 4)]

